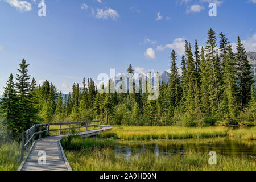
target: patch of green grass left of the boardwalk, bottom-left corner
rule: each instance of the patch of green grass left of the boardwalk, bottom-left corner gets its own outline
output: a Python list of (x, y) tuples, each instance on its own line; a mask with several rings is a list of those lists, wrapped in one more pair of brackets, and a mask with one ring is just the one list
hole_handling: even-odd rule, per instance
[(0, 144), (0, 171), (15, 171), (20, 165), (20, 142)]

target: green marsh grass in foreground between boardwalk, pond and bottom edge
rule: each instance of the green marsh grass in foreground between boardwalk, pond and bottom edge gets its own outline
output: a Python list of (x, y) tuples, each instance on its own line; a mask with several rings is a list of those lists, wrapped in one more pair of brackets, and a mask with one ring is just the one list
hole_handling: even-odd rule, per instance
[(112, 148), (93, 151), (65, 151), (69, 164), (75, 171), (230, 171), (256, 169), (256, 160), (251, 157), (217, 156), (217, 165), (208, 163), (208, 154), (193, 151), (185, 155), (156, 156), (154, 152), (144, 152), (126, 159), (116, 156)]

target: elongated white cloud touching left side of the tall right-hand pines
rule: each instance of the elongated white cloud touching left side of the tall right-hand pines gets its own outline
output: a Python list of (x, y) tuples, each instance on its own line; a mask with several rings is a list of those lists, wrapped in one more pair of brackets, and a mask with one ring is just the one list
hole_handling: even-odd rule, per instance
[(172, 44), (166, 44), (166, 46), (158, 46), (156, 50), (163, 51), (166, 48), (174, 49), (178, 55), (184, 54), (185, 38), (176, 38)]

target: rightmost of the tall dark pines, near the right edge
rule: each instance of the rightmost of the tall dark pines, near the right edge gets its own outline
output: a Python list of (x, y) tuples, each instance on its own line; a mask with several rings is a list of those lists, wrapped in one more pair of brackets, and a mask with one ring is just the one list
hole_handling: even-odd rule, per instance
[(250, 101), (251, 85), (254, 83), (253, 76), (251, 75), (251, 65), (249, 64), (246, 56), (245, 47), (238, 37), (237, 41), (237, 76), (238, 76), (238, 94), (241, 109), (244, 108)]

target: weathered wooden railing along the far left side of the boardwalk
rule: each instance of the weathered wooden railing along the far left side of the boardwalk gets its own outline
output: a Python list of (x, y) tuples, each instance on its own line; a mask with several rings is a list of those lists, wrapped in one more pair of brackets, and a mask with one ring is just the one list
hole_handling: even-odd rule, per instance
[[(99, 122), (98, 125), (95, 123)], [(80, 126), (80, 124), (85, 124), (85, 126)], [(93, 123), (93, 125), (88, 125), (89, 123)], [(50, 129), (51, 125), (60, 125), (59, 129)], [(69, 125), (68, 128), (61, 129), (61, 125)], [(78, 127), (71, 127), (71, 125), (78, 125)], [(42, 131), (42, 127), (46, 126), (46, 130)], [(21, 158), (20, 161), (23, 161), (24, 157), (24, 150), (27, 150), (27, 148), (30, 148), (32, 146), (32, 143), (35, 140), (36, 135), (39, 134), (39, 139), (42, 138), (42, 133), (46, 133), (47, 136), (49, 136), (49, 131), (59, 131), (59, 135), (61, 134), (61, 131), (63, 130), (69, 130), (69, 134), (71, 133), (71, 129), (78, 129), (78, 133), (80, 133), (80, 129), (86, 127), (86, 131), (88, 131), (88, 127), (97, 127), (101, 126), (101, 121), (80, 121), (80, 122), (63, 122), (63, 123), (42, 123), (42, 124), (36, 124), (33, 125), (30, 129), (27, 131), (24, 131), (22, 133), (22, 150), (21, 150)], [(35, 132), (35, 129), (39, 127), (39, 131)], [(48, 127), (48, 128), (47, 128)], [(26, 143), (25, 143), (25, 138), (26, 138)]]

